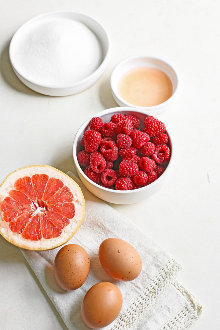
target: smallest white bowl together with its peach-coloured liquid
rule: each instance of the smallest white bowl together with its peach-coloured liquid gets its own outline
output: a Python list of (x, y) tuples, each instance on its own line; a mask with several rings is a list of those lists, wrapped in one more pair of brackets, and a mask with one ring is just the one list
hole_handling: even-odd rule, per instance
[(169, 107), (176, 95), (178, 79), (167, 62), (134, 55), (116, 65), (110, 84), (112, 95), (121, 107), (135, 107), (157, 115)]

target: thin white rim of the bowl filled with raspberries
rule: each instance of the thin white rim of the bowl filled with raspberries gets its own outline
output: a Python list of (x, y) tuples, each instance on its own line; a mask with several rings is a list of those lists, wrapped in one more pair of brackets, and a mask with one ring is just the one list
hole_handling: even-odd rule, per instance
[[(155, 181), (151, 182), (150, 184), (148, 184), (147, 186), (145, 187), (141, 187), (141, 188), (138, 188), (138, 189), (131, 189), (131, 190), (113, 190), (113, 189), (109, 189), (109, 188), (106, 188), (106, 187), (103, 187), (95, 182), (93, 182), (92, 180), (90, 180), (85, 174), (84, 172), (82, 171), (79, 163), (78, 163), (78, 159), (77, 159), (77, 142), (79, 140), (79, 135), (81, 134), (81, 132), (83, 130), (85, 130), (85, 127), (89, 124), (90, 120), (93, 118), (93, 117), (101, 117), (103, 115), (108, 115), (108, 114), (111, 114), (113, 113), (114, 111), (125, 111), (125, 112), (137, 112), (137, 113), (142, 113), (142, 114), (146, 114), (146, 116), (153, 116), (155, 118), (157, 118), (158, 120), (160, 120), (157, 116), (154, 116), (152, 115), (150, 112), (146, 111), (146, 110), (141, 110), (141, 109), (137, 109), (137, 108), (130, 108), (130, 107), (115, 107), (115, 108), (110, 108), (110, 109), (106, 109), (106, 110), (103, 110), (103, 111), (100, 111), (98, 112), (97, 114), (89, 117), (87, 120), (84, 121), (84, 123), (82, 123), (82, 125), (79, 127), (76, 135), (75, 135), (75, 138), (74, 138), (74, 141), (73, 141), (73, 159), (74, 159), (74, 163), (77, 167), (77, 169), (79, 170), (80, 174), (83, 176), (83, 178), (85, 180), (87, 180), (89, 183), (91, 183), (92, 185), (94, 185), (95, 187), (99, 188), (99, 189), (102, 189), (102, 190), (105, 190), (105, 191), (108, 191), (108, 192), (112, 192), (112, 193), (119, 193), (119, 194), (122, 194), (122, 193), (127, 193), (127, 194), (131, 194), (131, 193), (134, 193), (134, 192), (137, 192), (137, 191), (140, 191), (140, 190), (144, 190), (144, 189), (150, 189), (150, 187), (153, 187), (156, 182), (161, 181), (162, 177), (164, 177), (164, 174), (166, 172), (166, 170), (168, 169), (168, 167), (170, 168), (171, 167), (171, 164), (173, 162), (173, 150), (174, 150), (174, 143), (173, 143), (173, 138), (172, 136), (170, 135), (170, 132), (169, 130), (166, 128), (166, 132), (168, 133), (168, 136), (169, 136), (169, 139), (170, 139), (170, 143), (171, 143), (171, 157), (170, 157), (170, 160), (169, 160), (169, 163), (165, 169), (165, 171), (161, 174), (161, 176), (159, 178), (157, 178)], [(166, 126), (166, 125), (165, 125)]]

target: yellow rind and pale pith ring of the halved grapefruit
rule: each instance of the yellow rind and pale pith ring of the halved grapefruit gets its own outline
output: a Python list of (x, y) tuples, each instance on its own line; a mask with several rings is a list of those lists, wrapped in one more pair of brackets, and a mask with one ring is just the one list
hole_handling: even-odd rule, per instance
[(62, 229), (62, 233), (57, 238), (44, 239), (39, 241), (30, 241), (21, 237), (21, 235), (13, 233), (5, 220), (3, 220), (0, 211), (0, 234), (10, 243), (19, 248), (29, 250), (49, 250), (57, 248), (71, 239), (71, 237), (79, 229), (85, 214), (85, 200), (82, 191), (72, 178), (67, 174), (48, 165), (30, 165), (19, 168), (10, 173), (0, 185), (0, 204), (3, 199), (8, 196), (9, 191), (14, 189), (14, 182), (24, 176), (32, 176), (34, 174), (46, 174), (49, 177), (61, 180), (64, 185), (70, 188), (74, 196), (75, 215), (70, 219), (70, 223)]

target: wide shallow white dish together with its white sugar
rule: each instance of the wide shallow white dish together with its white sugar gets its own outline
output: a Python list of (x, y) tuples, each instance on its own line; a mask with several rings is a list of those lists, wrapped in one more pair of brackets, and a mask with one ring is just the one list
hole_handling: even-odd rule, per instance
[(36, 92), (65, 96), (92, 86), (110, 59), (105, 27), (90, 16), (50, 12), (23, 24), (13, 36), (9, 57), (17, 77)]

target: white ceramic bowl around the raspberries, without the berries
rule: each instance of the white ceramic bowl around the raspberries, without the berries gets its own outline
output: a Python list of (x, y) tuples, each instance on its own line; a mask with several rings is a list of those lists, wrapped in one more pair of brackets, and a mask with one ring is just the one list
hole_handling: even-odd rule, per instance
[[(171, 165), (173, 162), (173, 139), (169, 133), (169, 131), (166, 128), (166, 133), (169, 136), (170, 139), (170, 148), (171, 148), (171, 157), (170, 161), (168, 163), (167, 168), (165, 169), (164, 173), (154, 182), (150, 183), (149, 185), (134, 189), (134, 190), (112, 190), (105, 187), (102, 187), (101, 185), (93, 182), (90, 180), (82, 171), (78, 160), (77, 160), (77, 154), (82, 149), (82, 146), (80, 145), (80, 141), (83, 137), (84, 132), (89, 129), (89, 122), (93, 117), (101, 117), (104, 122), (110, 121), (110, 118), (113, 114), (130, 114), (137, 116), (141, 122), (143, 123), (146, 116), (151, 116), (150, 112), (147, 112), (145, 110), (139, 110), (137, 108), (128, 108), (128, 107), (117, 107), (117, 108), (111, 108), (104, 111), (101, 111), (97, 113), (96, 115), (90, 117), (87, 119), (79, 128), (77, 131), (77, 134), (74, 138), (73, 142), (73, 159), (74, 163), (76, 165), (77, 172), (79, 174), (79, 178), (84, 184), (84, 186), (91, 191), (95, 196), (103, 199), (106, 202), (114, 203), (114, 204), (133, 204), (137, 202), (141, 202), (142, 200), (152, 196), (155, 194), (166, 182)], [(166, 125), (166, 123), (165, 123)], [(143, 125), (142, 125), (143, 126)]]

